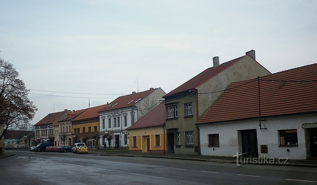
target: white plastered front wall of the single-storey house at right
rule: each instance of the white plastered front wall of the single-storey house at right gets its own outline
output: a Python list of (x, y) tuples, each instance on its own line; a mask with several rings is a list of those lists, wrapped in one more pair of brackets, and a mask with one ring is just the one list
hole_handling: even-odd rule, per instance
[[(264, 118), (263, 118), (264, 119)], [(236, 122), (212, 123), (199, 125), (202, 155), (233, 156), (236, 152), (241, 153), (241, 140), (238, 130), (256, 129), (259, 155), (265, 157), (288, 157), (290, 159), (306, 159), (306, 143), (302, 124), (317, 122), (317, 114), (298, 116), (283, 116), (265, 118), (262, 127), (267, 128), (264, 132), (259, 129), (259, 120), (245, 120)], [(298, 147), (279, 147), (278, 130), (297, 129)], [(208, 147), (208, 134), (219, 133), (219, 147)], [(240, 146), (239, 146), (240, 145)], [(268, 153), (260, 153), (260, 145), (268, 145)], [(213, 150), (215, 149), (215, 150)], [(290, 151), (287, 152), (287, 149)]]

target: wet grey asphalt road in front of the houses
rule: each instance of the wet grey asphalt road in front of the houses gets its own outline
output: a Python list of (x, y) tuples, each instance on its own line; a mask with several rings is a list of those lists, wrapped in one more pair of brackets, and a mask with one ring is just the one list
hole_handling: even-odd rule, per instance
[(13, 151), (0, 184), (317, 184), (317, 168)]

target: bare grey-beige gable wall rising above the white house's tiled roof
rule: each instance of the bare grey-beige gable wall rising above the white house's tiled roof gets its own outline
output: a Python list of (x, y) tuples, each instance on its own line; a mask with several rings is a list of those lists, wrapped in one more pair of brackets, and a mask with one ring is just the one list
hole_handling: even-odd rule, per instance
[[(214, 92), (227, 89), (233, 82), (257, 78), (271, 74), (267, 69), (254, 61), (250, 56), (246, 56), (237, 63), (225, 69), (217, 76), (211, 78), (199, 86), (198, 93)], [(199, 94), (198, 95), (198, 114), (199, 118), (213, 105), (223, 92)]]

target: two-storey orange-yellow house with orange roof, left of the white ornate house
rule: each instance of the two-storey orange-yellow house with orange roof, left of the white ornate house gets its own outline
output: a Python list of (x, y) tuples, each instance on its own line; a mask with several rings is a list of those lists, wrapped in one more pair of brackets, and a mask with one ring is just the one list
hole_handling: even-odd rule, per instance
[(99, 140), (102, 133), (99, 132), (99, 113), (107, 104), (88, 108), (81, 115), (72, 120), (73, 144), (85, 142), (87, 147), (99, 148), (102, 145)]

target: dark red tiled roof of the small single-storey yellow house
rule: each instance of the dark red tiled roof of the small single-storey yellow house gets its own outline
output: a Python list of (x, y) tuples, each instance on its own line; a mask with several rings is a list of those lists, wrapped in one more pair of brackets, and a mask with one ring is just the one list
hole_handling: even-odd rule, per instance
[(159, 103), (154, 109), (141, 117), (127, 129), (162, 126), (165, 123), (165, 104)]

